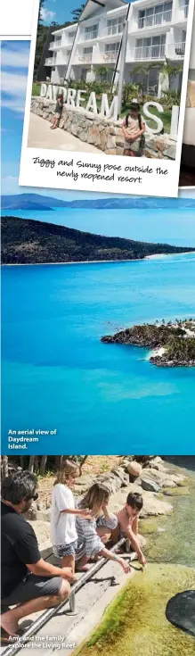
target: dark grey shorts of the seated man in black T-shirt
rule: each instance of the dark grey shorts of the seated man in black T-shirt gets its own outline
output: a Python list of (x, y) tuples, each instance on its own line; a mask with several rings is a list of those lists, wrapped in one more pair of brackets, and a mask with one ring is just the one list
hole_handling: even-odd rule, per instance
[(58, 594), (61, 590), (61, 577), (37, 577), (28, 574), (6, 598), (2, 599), (2, 609), (18, 603), (30, 602), (37, 597)]

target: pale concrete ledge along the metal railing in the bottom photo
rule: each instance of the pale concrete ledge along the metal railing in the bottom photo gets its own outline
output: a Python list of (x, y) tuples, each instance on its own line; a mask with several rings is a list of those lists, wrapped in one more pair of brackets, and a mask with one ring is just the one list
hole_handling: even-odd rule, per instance
[[(45, 556), (45, 553), (43, 554)], [(135, 555), (135, 554), (134, 554)], [(124, 557), (129, 559), (127, 554)], [(48, 559), (53, 561), (53, 557)], [(77, 614), (71, 614), (69, 604), (64, 610), (57, 613), (53, 619), (38, 631), (33, 642), (28, 643), (28, 656), (45, 656), (46, 652), (52, 656), (53, 652), (60, 652), (61, 656), (69, 656), (79, 644), (93, 631), (93, 628), (101, 621), (104, 611), (116, 597), (120, 589), (134, 577), (137, 569), (141, 566), (137, 561), (132, 562), (132, 568), (128, 575), (113, 561), (107, 561), (93, 578), (76, 594)], [(82, 575), (78, 575), (82, 576)], [(29, 619), (20, 622), (21, 627), (35, 621), (42, 613), (35, 613)], [(26, 650), (25, 650), (26, 651)], [(1, 653), (3, 654), (4, 649)], [(20, 650), (20, 654), (23, 650)]]

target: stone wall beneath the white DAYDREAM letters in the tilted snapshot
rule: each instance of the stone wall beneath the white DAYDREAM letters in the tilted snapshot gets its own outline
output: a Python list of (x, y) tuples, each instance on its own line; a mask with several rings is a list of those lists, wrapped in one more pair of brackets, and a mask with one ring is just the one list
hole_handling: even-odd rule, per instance
[[(51, 121), (55, 102), (46, 98), (33, 96), (31, 112)], [(113, 121), (85, 112), (84, 109), (71, 109), (64, 105), (59, 127), (67, 130), (87, 144), (95, 145), (100, 151), (110, 155), (122, 155), (124, 151), (124, 136), (121, 129), (122, 120)], [(150, 158), (175, 160), (175, 141), (167, 134), (152, 135), (145, 133), (146, 146), (144, 155)], [(84, 145), (85, 151), (85, 145)]]

